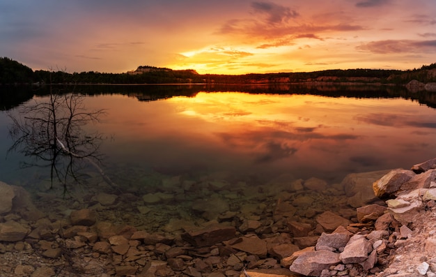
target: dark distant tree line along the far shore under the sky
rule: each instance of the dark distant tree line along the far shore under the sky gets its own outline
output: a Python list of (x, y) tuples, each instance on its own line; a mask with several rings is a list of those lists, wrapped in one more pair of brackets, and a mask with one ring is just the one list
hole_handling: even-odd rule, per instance
[(134, 72), (119, 74), (95, 71), (67, 73), (65, 70), (33, 71), (22, 63), (3, 57), (0, 58), (0, 84), (271, 84), (313, 81), (407, 84), (411, 80), (436, 82), (435, 68), (436, 63), (431, 63), (428, 66), (414, 68), (413, 70), (357, 68), (322, 70), (309, 73), (201, 75), (195, 70), (171, 70), (155, 66), (139, 66)]

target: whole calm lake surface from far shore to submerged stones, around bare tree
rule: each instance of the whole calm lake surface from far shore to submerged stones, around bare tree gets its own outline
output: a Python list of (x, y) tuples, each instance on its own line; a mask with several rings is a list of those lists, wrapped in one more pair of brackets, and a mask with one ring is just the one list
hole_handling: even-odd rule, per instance
[[(23, 146), (8, 151), (14, 143), (8, 114), (19, 118), (24, 107), (47, 103), (47, 91), (21, 89), (10, 92), (15, 93), (10, 98), (2, 96), (0, 180), (35, 195), (63, 195), (56, 178), (49, 190), (49, 163), (24, 156)], [(68, 87), (62, 92), (71, 91), (79, 93), (85, 111), (104, 109), (98, 122), (80, 128), (98, 134), (98, 167), (117, 190), (139, 197), (166, 194), (155, 202), (144, 200), (146, 205), (168, 204), (165, 197), (172, 194), (189, 210), (189, 203), (210, 196), (208, 190), (223, 190), (224, 198), (233, 201), (244, 195), (238, 186), (262, 192), (283, 175), (333, 185), (349, 173), (410, 168), (436, 157), (432, 98), (403, 89), (168, 85)], [(68, 163), (57, 166), (62, 175)], [(65, 178), (71, 195), (79, 193), (77, 181), (81, 191), (114, 193), (95, 166), (81, 163), (75, 170), (77, 180)], [(202, 187), (205, 180), (209, 183)]]

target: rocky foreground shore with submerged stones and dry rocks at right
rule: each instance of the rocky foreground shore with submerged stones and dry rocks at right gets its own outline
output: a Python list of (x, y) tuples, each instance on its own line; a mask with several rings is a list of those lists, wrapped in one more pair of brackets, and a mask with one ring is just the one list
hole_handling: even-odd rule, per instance
[(156, 184), (31, 197), (0, 182), (0, 276), (436, 276), (436, 158), (340, 184)]

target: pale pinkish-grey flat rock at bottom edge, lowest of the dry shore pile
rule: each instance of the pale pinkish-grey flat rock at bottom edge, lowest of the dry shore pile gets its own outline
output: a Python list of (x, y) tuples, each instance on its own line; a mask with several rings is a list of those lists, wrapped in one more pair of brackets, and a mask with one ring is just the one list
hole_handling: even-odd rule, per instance
[(290, 271), (305, 276), (320, 276), (323, 269), (329, 269), (341, 260), (339, 254), (327, 250), (306, 252), (297, 257), (289, 267)]

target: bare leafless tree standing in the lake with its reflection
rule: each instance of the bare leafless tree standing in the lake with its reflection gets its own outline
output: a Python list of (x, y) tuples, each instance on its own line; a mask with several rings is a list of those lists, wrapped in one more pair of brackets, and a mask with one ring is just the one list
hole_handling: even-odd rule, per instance
[(13, 124), (10, 135), (15, 140), (9, 151), (20, 151), (24, 156), (35, 158), (24, 166), (50, 167), (52, 186), (54, 180), (63, 184), (79, 181), (81, 168), (86, 163), (95, 166), (106, 181), (110, 179), (98, 165), (98, 149), (102, 142), (100, 133), (88, 133), (84, 126), (99, 121), (103, 110), (88, 112), (83, 105), (84, 98), (75, 93), (50, 94), (47, 101), (38, 101), (18, 109), (16, 116), (10, 114)]

